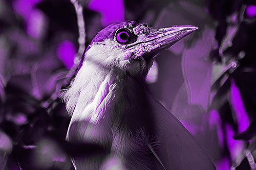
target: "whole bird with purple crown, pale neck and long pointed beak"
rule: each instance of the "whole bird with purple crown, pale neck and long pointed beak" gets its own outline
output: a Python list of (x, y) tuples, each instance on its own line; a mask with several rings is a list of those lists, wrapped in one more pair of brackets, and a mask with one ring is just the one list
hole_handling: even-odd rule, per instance
[(105, 152), (72, 157), (75, 169), (216, 169), (180, 121), (146, 90), (158, 54), (196, 31), (119, 21), (93, 38), (63, 101), (69, 142)]

